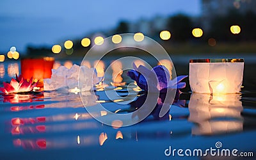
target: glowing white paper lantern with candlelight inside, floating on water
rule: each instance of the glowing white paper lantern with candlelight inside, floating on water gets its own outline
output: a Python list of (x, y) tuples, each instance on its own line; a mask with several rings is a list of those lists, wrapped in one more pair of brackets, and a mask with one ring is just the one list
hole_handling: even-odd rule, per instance
[(190, 60), (189, 84), (196, 93), (239, 93), (243, 70), (243, 59)]

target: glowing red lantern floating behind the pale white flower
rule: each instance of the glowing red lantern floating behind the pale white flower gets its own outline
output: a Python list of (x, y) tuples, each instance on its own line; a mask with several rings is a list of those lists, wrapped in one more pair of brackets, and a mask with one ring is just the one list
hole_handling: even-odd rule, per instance
[(54, 58), (51, 57), (22, 59), (21, 74), (24, 79), (33, 77), (33, 81), (38, 81), (38, 86), (42, 87), (44, 79), (51, 78), (53, 64)]

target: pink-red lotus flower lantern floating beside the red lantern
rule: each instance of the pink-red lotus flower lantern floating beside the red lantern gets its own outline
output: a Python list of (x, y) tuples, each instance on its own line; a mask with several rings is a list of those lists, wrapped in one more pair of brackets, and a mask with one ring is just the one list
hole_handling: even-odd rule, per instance
[(19, 92), (31, 92), (37, 83), (33, 83), (33, 77), (26, 81), (21, 75), (18, 77), (16, 74), (16, 79), (11, 80), (9, 83), (3, 83), (4, 87), (0, 87), (0, 91), (6, 94), (9, 93), (19, 93)]

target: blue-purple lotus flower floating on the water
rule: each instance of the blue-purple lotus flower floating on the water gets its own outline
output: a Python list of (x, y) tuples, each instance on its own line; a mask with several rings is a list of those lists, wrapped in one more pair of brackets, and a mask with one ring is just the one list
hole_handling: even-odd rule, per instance
[[(149, 70), (140, 65), (132, 64), (134, 70), (130, 70), (127, 74), (131, 79), (136, 81), (137, 85), (146, 92), (167, 92), (168, 89), (180, 89), (186, 86), (186, 83), (181, 82), (188, 76), (178, 76), (170, 80), (170, 73), (163, 65), (157, 65)], [(149, 87), (148, 87), (149, 86)]]

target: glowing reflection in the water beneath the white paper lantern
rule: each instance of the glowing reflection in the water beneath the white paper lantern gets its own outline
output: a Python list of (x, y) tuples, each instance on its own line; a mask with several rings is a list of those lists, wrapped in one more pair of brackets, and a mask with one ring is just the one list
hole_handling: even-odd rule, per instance
[(193, 93), (189, 101), (189, 121), (198, 124), (192, 134), (221, 134), (243, 130), (239, 94), (207, 95)]

